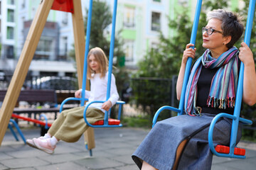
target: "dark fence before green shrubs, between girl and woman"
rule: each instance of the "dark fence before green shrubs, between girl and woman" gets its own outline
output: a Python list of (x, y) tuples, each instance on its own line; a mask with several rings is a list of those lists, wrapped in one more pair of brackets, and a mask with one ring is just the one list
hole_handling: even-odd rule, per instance
[[(132, 98), (137, 106), (142, 106), (143, 111), (154, 116), (154, 113), (161, 106), (178, 106), (176, 99), (176, 79), (161, 79), (151, 77), (141, 77), (131, 79)], [(171, 113), (172, 114), (172, 113)], [(164, 118), (171, 115), (163, 115)]]

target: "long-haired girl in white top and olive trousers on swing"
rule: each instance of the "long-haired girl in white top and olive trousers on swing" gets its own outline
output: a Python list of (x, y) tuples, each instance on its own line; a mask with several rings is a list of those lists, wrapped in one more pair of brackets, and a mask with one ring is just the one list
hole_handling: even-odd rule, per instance
[[(100, 47), (95, 47), (88, 53), (87, 61), (87, 77), (90, 79), (91, 85), (90, 91), (85, 91), (85, 98), (88, 98), (87, 103), (91, 101), (105, 101), (107, 96), (107, 77), (109, 74), (107, 72), (107, 57)], [(97, 120), (103, 120), (105, 111), (109, 111), (119, 99), (113, 74), (110, 89), (110, 98), (105, 103), (92, 103), (88, 107), (86, 117), (89, 123), (93, 124)], [(75, 97), (79, 98), (81, 93), (82, 89), (75, 91)], [(26, 143), (48, 154), (53, 154), (58, 141), (77, 142), (82, 133), (88, 128), (83, 118), (85, 106), (63, 111), (53, 122), (46, 135), (33, 138), (33, 140), (26, 140)]]

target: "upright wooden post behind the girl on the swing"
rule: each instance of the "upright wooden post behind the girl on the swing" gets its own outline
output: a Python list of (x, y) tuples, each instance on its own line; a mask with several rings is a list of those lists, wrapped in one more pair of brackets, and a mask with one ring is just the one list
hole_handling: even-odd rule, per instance
[[(85, 57), (85, 28), (82, 18), (82, 6), (80, 1), (73, 1), (74, 13), (73, 18), (73, 32), (75, 41), (75, 60), (78, 69), (78, 84), (82, 88), (82, 72)], [(90, 90), (89, 81), (86, 81), (86, 89)], [(88, 128), (85, 133), (85, 142), (87, 142), (87, 148), (95, 148), (95, 136), (93, 128)]]

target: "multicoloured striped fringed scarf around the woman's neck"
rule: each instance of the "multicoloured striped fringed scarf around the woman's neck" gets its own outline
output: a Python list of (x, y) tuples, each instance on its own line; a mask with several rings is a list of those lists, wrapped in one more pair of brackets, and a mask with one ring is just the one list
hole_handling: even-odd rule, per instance
[(238, 53), (238, 48), (232, 47), (215, 59), (210, 56), (208, 49), (196, 61), (186, 86), (186, 114), (201, 115), (201, 108), (196, 107), (196, 96), (202, 66), (208, 69), (218, 68), (210, 84), (207, 106), (220, 109), (235, 106), (235, 93), (238, 86)]

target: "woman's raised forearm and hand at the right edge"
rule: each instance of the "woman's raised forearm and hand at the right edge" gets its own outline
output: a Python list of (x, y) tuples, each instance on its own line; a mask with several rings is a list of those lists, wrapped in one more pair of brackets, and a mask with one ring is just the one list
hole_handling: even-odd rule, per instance
[(256, 73), (252, 51), (245, 42), (239, 48), (239, 58), (245, 65), (242, 101), (252, 106), (256, 103)]

